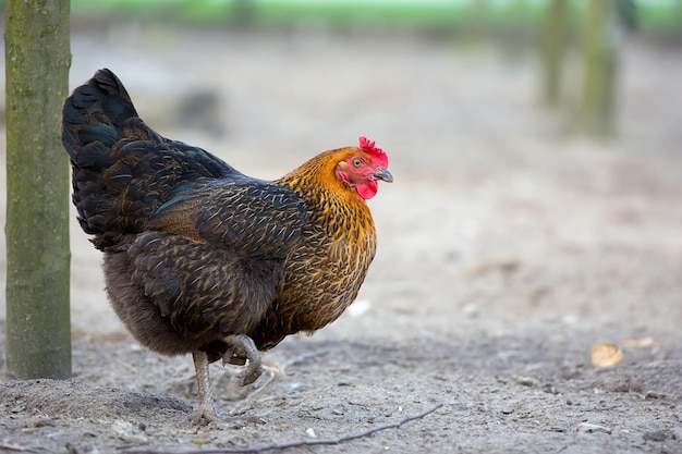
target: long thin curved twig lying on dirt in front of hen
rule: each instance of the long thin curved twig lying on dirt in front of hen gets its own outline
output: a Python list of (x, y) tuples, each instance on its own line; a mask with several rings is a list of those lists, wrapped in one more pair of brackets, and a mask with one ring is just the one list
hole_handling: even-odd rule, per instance
[[(260, 444), (254, 446), (244, 446), (244, 447), (218, 447), (218, 449), (208, 449), (208, 450), (188, 450), (188, 451), (175, 451), (175, 454), (235, 454), (235, 453), (263, 453), (266, 451), (273, 450), (288, 450), (290, 447), (300, 447), (300, 446), (315, 446), (315, 445), (329, 445), (329, 444), (340, 444), (346, 441), (356, 440), (363, 437), (370, 435), (373, 433), (379, 432), (381, 430), (387, 429), (395, 429), (405, 422), (413, 421), (415, 419), (424, 418), (427, 415), (436, 412), (438, 408), (442, 407), (442, 403), (438, 403), (433, 407), (412, 416), (406, 416), (395, 422), (389, 422), (380, 426), (375, 426), (367, 430), (362, 430), (355, 433), (346, 433), (345, 435), (340, 435), (330, 439), (306, 439), (306, 440), (296, 440), (289, 441), (283, 443), (270, 443), (270, 444)], [(133, 447), (124, 451), (126, 454), (166, 454), (167, 450), (155, 450), (155, 449), (139, 449)]]

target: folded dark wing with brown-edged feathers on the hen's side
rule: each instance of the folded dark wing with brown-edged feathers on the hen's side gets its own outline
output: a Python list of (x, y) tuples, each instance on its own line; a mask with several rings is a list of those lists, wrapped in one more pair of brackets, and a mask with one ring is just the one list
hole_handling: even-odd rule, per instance
[(269, 260), (287, 257), (307, 219), (305, 203), (288, 187), (234, 175), (178, 188), (148, 226)]

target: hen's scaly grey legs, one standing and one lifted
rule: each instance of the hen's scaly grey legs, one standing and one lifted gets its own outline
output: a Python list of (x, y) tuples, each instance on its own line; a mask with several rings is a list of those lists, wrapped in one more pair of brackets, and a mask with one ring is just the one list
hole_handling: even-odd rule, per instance
[[(260, 360), (260, 354), (258, 348), (254, 344), (254, 341), (245, 334), (233, 334), (227, 336), (224, 343), (228, 345), (228, 349), (222, 356), (223, 364), (245, 365), (243, 385), (253, 383), (263, 373), (263, 363)], [(196, 384), (199, 394), (199, 408), (196, 413), (196, 420), (200, 422), (205, 420), (212, 422), (217, 419), (227, 419), (222, 413), (218, 413), (216, 408), (216, 401), (210, 385), (208, 376), (208, 354), (206, 352), (196, 351), (192, 353), (194, 359), (194, 368), (196, 370)], [(243, 418), (235, 418), (243, 419)], [(252, 418), (246, 418), (251, 420)], [(260, 421), (260, 418), (255, 418)]]

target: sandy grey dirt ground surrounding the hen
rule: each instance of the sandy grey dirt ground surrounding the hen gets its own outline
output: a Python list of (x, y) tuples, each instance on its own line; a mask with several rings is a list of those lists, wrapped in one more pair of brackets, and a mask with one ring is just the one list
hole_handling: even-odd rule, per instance
[[(0, 382), (0, 452), (314, 441), (441, 404), (292, 451), (682, 453), (680, 47), (628, 42), (621, 135), (599, 142), (570, 135), (567, 109), (538, 106), (534, 56), (511, 45), (361, 29), (73, 33), (72, 87), (108, 66), (162, 134), (247, 174), (275, 177), (367, 135), (395, 182), (370, 201), (379, 250), (355, 305), (266, 354), (253, 385), (211, 367), (218, 406), (261, 425), (193, 424), (191, 358), (124, 331), (74, 222), (73, 379)], [(579, 79), (570, 64), (567, 98)], [(600, 343), (622, 361), (593, 368)]]

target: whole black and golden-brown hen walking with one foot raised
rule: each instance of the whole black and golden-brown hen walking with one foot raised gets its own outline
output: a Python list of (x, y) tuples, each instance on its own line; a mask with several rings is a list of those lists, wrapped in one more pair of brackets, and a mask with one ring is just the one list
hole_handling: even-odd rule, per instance
[(149, 128), (109, 70), (65, 100), (62, 144), (111, 306), (149, 349), (193, 355), (206, 421), (218, 417), (210, 363), (244, 366), (251, 383), (259, 351), (319, 330), (353, 302), (376, 251), (365, 200), (393, 180), (365, 137), (279, 180), (246, 176)]

